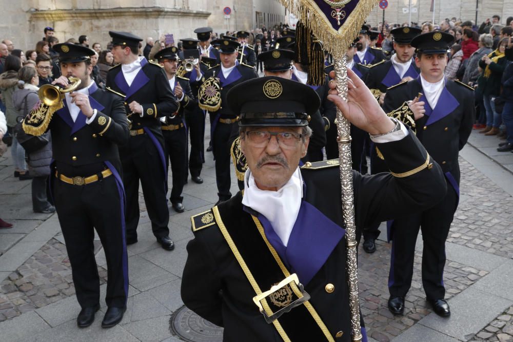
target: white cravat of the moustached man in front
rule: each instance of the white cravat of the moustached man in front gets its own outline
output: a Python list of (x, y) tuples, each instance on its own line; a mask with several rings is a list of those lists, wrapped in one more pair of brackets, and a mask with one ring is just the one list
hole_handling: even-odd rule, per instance
[(264, 215), (286, 247), (303, 198), (303, 177), (299, 167), (278, 191), (260, 190), (249, 169), (244, 179), (242, 204)]

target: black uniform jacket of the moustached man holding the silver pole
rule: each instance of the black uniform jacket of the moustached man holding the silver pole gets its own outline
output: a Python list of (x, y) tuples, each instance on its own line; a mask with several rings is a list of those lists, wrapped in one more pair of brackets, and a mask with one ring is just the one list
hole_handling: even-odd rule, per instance
[[(380, 149), (392, 172), (404, 173), (420, 165), (425, 167), (405, 177), (394, 177), (390, 173), (370, 176), (353, 171), (357, 227), (398, 217), (406, 212), (422, 211), (446, 193), (447, 187), (440, 167), (432, 159), (426, 160), (427, 152), (413, 133), (410, 132), (397, 142), (380, 144)], [(301, 173), (306, 184), (303, 199), (331, 222), (344, 227), (339, 167), (333, 162), (324, 161), (302, 167)], [(317, 165), (319, 168), (315, 167)], [(226, 226), (236, 225), (237, 229), (242, 230), (257, 229), (250, 214), (243, 211), (242, 196), (242, 192), (239, 192), (218, 206), (221, 218)], [(193, 222), (201, 225), (202, 221)], [(195, 226), (195, 237), (187, 245), (188, 258), (182, 278), (182, 299), (185, 305), (212, 323), (223, 326), (224, 341), (281, 341), (274, 326), (266, 323), (253, 303), (255, 292), (223, 237), (217, 218), (213, 223), (203, 226)], [(254, 257), (259, 258), (259, 255)], [(324, 321), (331, 336), (343, 332), (337, 341), (351, 339), (345, 259), (346, 247), (342, 238), (311, 280), (304, 284), (306, 292), (311, 296), (310, 304)], [(326, 291), (327, 284), (332, 284), (334, 291)], [(267, 290), (262, 288), (262, 291)], [(301, 329), (302, 322), (298, 321), (296, 326)], [(305, 332), (302, 340), (310, 340), (308, 332)]]

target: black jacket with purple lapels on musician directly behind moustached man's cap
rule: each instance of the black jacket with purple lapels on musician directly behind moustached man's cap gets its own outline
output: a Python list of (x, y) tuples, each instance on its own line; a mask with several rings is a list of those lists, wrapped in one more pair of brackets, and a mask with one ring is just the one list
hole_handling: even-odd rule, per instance
[(238, 64), (233, 68), (228, 77), (225, 79), (223, 72), (221, 71), (221, 64), (213, 66), (208, 69), (205, 73), (204, 79), (209, 78), (210, 76), (215, 75), (215, 77), (220, 78), (221, 82), (221, 108), (218, 111), (212, 112), (213, 114), (221, 114), (221, 118), (235, 118), (239, 113), (233, 113), (229, 106), (226, 105), (226, 95), (228, 91), (234, 86), (243, 83), (244, 81), (248, 81), (251, 78), (257, 78), (257, 72), (251, 66), (245, 64)]

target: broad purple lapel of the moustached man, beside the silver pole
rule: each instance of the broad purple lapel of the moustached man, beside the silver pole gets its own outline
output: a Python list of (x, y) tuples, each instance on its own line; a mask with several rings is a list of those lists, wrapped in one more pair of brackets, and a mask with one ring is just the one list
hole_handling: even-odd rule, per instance
[(285, 254), (303, 285), (319, 272), (344, 234), (344, 229), (317, 208), (304, 200), (301, 202)]

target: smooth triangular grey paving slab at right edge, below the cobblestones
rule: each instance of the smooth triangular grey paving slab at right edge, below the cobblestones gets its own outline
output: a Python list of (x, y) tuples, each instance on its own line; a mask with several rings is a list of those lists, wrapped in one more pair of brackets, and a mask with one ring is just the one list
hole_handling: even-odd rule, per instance
[(483, 279), (475, 288), (481, 291), (513, 300), (513, 260), (508, 260)]

